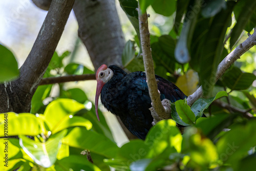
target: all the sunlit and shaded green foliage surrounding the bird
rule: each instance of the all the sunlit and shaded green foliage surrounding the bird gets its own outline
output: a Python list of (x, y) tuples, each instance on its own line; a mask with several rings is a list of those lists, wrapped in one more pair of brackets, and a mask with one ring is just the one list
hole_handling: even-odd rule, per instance
[[(8, 121), (8, 167), (1, 170), (254, 170), (256, 160), (255, 68), (256, 48), (246, 52), (217, 84), (210, 83), (219, 62), (252, 32), (256, 3), (252, 1), (139, 0), (150, 11), (151, 48), (156, 74), (176, 82), (186, 95), (201, 84), (205, 99), (191, 108), (186, 99), (172, 103), (172, 119), (158, 122), (145, 141), (131, 140), (118, 147), (102, 113), (81, 89), (39, 86), (30, 113), (0, 114), (0, 128)], [(120, 0), (132, 23), (134, 39), (123, 50), (123, 66), (144, 70), (141, 57), (137, 1)], [(174, 20), (174, 22), (172, 22)], [(244, 31), (245, 30), (245, 31)], [(244, 31), (244, 32), (243, 32)], [(168, 33), (168, 34), (166, 34)], [(240, 40), (240, 38), (241, 40)], [(225, 44), (223, 44), (225, 42)], [(0, 45), (0, 82), (18, 76), (13, 53)], [(70, 52), (54, 53), (44, 75), (91, 74), (79, 63), (63, 64)], [(56, 86), (55, 85), (55, 86)], [(226, 109), (214, 101), (231, 106)], [(207, 118), (201, 117), (203, 114)], [(186, 126), (182, 135), (176, 126)], [(223, 129), (230, 129), (224, 132)], [(4, 137), (4, 132), (0, 132)], [(27, 136), (32, 137), (32, 139)], [(3, 159), (5, 144), (0, 144)], [(94, 163), (87, 159), (89, 151)]]

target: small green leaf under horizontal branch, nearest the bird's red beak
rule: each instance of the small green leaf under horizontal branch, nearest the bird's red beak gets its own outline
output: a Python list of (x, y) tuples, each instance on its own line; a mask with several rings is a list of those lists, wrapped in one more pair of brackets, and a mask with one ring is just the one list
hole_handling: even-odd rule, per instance
[(74, 99), (79, 103), (84, 103), (88, 100), (86, 93), (84, 93), (81, 89), (69, 89), (67, 91), (62, 90), (61, 95), (59, 98), (69, 98)]

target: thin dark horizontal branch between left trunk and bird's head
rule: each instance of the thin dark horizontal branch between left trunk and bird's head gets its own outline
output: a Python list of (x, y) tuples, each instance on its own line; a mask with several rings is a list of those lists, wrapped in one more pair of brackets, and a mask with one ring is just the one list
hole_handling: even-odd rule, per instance
[(84, 81), (84, 80), (95, 80), (95, 74), (83, 74), (83, 75), (67, 75), (62, 77), (49, 77), (41, 79), (39, 85), (54, 84), (70, 81)]

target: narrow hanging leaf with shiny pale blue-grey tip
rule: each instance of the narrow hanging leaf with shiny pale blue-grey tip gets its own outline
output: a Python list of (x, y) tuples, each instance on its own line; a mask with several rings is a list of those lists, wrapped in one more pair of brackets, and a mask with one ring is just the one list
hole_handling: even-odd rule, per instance
[[(193, 8), (194, 6), (199, 7), (198, 11), (200, 11), (200, 1), (196, 0), (193, 5), (188, 7), (180, 37), (175, 48), (175, 58), (180, 63), (186, 63), (190, 60), (189, 49), (199, 13), (193, 11), (195, 10)], [(189, 13), (193, 13), (193, 17), (188, 16)]]

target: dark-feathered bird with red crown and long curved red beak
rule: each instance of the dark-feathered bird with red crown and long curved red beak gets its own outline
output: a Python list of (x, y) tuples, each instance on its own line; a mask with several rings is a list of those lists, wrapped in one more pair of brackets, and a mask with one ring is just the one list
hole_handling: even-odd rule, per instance
[[(172, 82), (156, 75), (160, 99), (175, 102), (187, 96)], [(126, 73), (115, 65), (102, 65), (96, 72), (95, 111), (98, 115), (99, 96), (106, 110), (120, 117), (124, 126), (139, 139), (151, 129), (152, 107), (145, 72)]]

